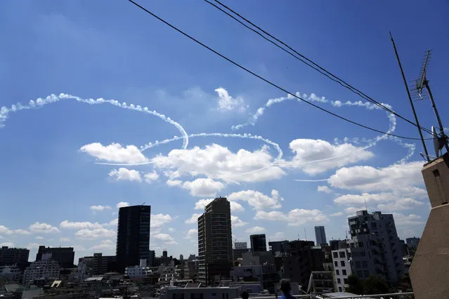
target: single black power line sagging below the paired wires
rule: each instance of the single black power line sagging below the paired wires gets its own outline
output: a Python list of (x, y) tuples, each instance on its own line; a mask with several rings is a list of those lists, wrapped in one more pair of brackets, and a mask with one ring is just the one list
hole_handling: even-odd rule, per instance
[[(275, 84), (275, 83), (269, 81), (268, 79), (265, 79), (265, 78), (259, 76), (258, 74), (252, 72), (251, 70), (247, 69), (246, 67), (243, 67), (242, 65), (239, 65), (237, 62), (235, 62), (235, 61), (231, 60), (230, 58), (227, 58), (225, 55), (223, 55), (223, 54), (221, 54), (221, 53), (215, 51), (213, 48), (210, 48), (209, 46), (203, 44), (201, 41), (198, 41), (198, 40), (195, 39), (193, 36), (190, 36), (190, 35), (187, 34), (186, 32), (183, 32), (181, 29), (178, 29), (178, 28), (175, 27), (174, 25), (171, 25), (171, 24), (170, 24), (169, 22), (167, 22), (166, 20), (164, 20), (164, 19), (160, 18), (159, 16), (155, 15), (155, 13), (152, 13), (151, 11), (148, 11), (147, 8), (144, 8), (144, 7), (141, 6), (140, 4), (137, 4), (136, 2), (134, 2), (133, 0), (128, 0), (128, 1), (131, 2), (132, 4), (134, 4), (135, 6), (137, 6), (138, 8), (141, 8), (141, 10), (145, 11), (146, 13), (152, 15), (152, 17), (156, 18), (157, 20), (160, 20), (160, 21), (163, 22), (165, 25), (167, 25), (167, 26), (171, 27), (172, 29), (175, 29), (177, 32), (183, 34), (183, 36), (188, 37), (188, 39), (191, 39), (192, 41), (195, 41), (195, 43), (200, 44), (200, 46), (203, 46), (204, 48), (207, 48), (209, 51), (215, 53), (216, 55), (219, 55), (221, 58), (223, 58), (224, 60), (227, 60), (228, 62), (232, 63), (232, 64), (235, 65), (236, 67), (240, 67), (240, 69), (245, 70), (245, 72), (248, 72), (249, 74), (252, 74), (254, 77), (257, 77), (257, 78), (261, 79), (262, 81), (264, 81), (264, 82), (270, 84), (271, 86), (273, 86), (273, 87), (275, 87), (275, 88), (278, 88), (280, 91), (283, 91), (283, 92), (285, 92), (285, 93), (287, 93), (287, 94), (289, 94), (289, 95), (292, 95), (294, 98), (297, 98), (297, 99), (299, 99), (299, 100), (302, 100), (303, 102), (306, 102), (308, 105), (311, 105), (311, 106), (313, 106), (313, 107), (315, 107), (315, 108), (318, 108), (318, 109), (320, 109), (321, 111), (326, 112), (327, 114), (331, 114), (331, 115), (334, 116), (334, 117), (338, 117), (339, 119), (343, 119), (344, 121), (347, 121), (347, 122), (349, 122), (349, 123), (351, 123), (351, 124), (355, 124), (356, 126), (360, 126), (360, 127), (362, 127), (362, 128), (366, 128), (366, 129), (368, 129), (368, 130), (370, 130), (370, 131), (375, 131), (375, 132), (377, 132), (377, 133), (382, 133), (382, 134), (390, 135), (390, 136), (397, 137), (397, 138), (403, 138), (403, 139), (409, 139), (409, 140), (421, 140), (421, 138), (405, 137), (405, 136), (401, 136), (401, 135), (395, 135), (395, 134), (391, 134), (391, 133), (388, 133), (388, 132), (380, 131), (380, 130), (377, 130), (377, 129), (375, 129), (375, 128), (370, 128), (369, 126), (365, 126), (365, 125), (363, 125), (363, 124), (359, 124), (359, 123), (356, 122), (356, 121), (351, 121), (351, 119), (346, 119), (346, 117), (341, 117), (340, 115), (335, 114), (334, 112), (331, 112), (331, 111), (329, 111), (329, 110), (327, 110), (327, 109), (325, 109), (325, 108), (323, 108), (323, 107), (320, 107), (320, 106), (318, 106), (318, 105), (313, 104), (313, 102), (309, 102), (308, 100), (304, 100), (303, 98), (301, 98), (301, 97), (295, 95), (294, 93), (291, 93), (291, 92), (287, 91), (285, 88), (282, 88), (282, 87), (278, 86), (277, 84)], [(432, 139), (432, 138), (430, 138), (430, 139)]]

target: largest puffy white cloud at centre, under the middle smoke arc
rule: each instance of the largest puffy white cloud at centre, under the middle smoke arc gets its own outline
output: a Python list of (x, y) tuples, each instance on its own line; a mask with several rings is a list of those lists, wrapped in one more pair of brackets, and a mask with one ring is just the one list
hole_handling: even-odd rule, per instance
[(268, 146), (254, 152), (241, 149), (233, 153), (227, 147), (213, 144), (204, 149), (171, 150), (167, 156), (160, 154), (151, 161), (155, 167), (164, 169), (164, 173), (171, 171), (177, 177), (204, 175), (226, 182), (275, 180), (285, 174), (280, 167), (272, 165), (273, 157)]

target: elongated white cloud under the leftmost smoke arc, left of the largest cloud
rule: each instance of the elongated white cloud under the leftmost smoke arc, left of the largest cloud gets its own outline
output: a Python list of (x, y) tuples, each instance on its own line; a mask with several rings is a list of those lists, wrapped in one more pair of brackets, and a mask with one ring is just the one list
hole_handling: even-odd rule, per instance
[(100, 142), (94, 142), (89, 145), (84, 145), (80, 151), (86, 152), (97, 159), (111, 163), (133, 164), (148, 161), (135, 145), (126, 145), (126, 147), (122, 147), (119, 143), (112, 143), (103, 146)]

